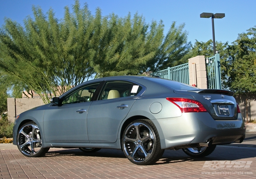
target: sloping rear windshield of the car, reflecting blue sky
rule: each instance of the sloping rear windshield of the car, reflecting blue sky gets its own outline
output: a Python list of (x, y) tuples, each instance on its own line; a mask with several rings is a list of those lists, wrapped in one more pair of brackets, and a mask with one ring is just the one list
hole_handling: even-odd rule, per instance
[(186, 85), (184, 83), (180, 83), (180, 82), (177, 82), (177, 81), (169, 80), (169, 79), (163, 79), (163, 78), (145, 78), (145, 79), (153, 81), (153, 82), (158, 83), (158, 84), (161, 84), (163, 86), (166, 86), (166, 87), (174, 89), (174, 90), (198, 89), (196, 87)]

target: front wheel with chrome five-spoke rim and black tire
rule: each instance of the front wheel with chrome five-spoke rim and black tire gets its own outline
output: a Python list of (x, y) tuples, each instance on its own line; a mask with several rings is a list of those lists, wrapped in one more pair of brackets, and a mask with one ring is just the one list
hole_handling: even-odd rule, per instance
[(39, 157), (48, 152), (50, 148), (42, 148), (40, 130), (34, 122), (27, 122), (18, 130), (17, 146), (25, 156)]

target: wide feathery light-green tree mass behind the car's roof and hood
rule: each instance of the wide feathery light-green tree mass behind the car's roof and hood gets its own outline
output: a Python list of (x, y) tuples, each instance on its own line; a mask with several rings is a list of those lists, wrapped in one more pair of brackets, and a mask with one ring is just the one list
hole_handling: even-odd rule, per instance
[[(188, 51), (184, 24), (146, 24), (142, 16), (95, 15), (76, 0), (63, 19), (32, 7), (24, 27), (5, 19), (0, 31), (0, 68), (11, 87), (38, 93), (44, 102), (89, 78), (139, 75), (172, 66)], [(8, 87), (10, 88), (10, 87)], [(18, 90), (19, 91), (19, 90)]]

